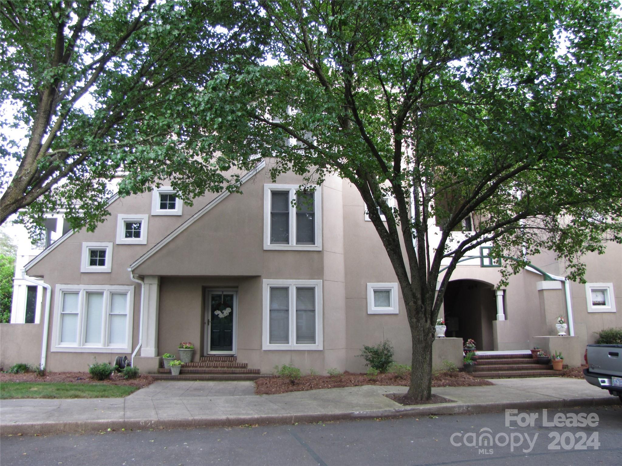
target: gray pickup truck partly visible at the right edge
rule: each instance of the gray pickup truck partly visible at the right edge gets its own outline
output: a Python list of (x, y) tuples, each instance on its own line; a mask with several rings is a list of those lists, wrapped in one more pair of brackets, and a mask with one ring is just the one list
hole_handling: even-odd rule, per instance
[(583, 377), (622, 401), (622, 345), (587, 345)]

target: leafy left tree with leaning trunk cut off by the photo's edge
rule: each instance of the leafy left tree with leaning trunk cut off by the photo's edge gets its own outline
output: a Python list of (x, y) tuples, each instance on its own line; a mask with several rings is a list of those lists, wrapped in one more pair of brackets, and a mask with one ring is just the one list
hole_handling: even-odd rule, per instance
[[(3, 1), (0, 12), (0, 223), (66, 209), (72, 226), (94, 229), (118, 175), (122, 195), (188, 171), (188, 199), (234, 189), (228, 161), (195, 157), (207, 152), (187, 96), (224, 63), (261, 55), (253, 4)], [(10, 137), (19, 126), (24, 149)]]

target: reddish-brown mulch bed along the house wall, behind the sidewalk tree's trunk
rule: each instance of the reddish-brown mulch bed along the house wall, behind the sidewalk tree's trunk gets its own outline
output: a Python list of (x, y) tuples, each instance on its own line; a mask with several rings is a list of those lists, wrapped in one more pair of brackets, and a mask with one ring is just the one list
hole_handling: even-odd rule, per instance
[[(304, 375), (292, 385), (281, 377), (259, 378), (255, 381), (257, 395), (276, 395), (289, 391), (318, 390), (320, 388), (342, 388), (361, 385), (402, 385), (408, 386), (411, 375), (399, 378), (394, 373), (378, 374), (375, 380), (366, 374), (344, 372), (343, 375)], [(442, 372), (432, 377), (432, 386), (481, 386), (494, 385), (488, 380), (472, 377), (464, 372)]]

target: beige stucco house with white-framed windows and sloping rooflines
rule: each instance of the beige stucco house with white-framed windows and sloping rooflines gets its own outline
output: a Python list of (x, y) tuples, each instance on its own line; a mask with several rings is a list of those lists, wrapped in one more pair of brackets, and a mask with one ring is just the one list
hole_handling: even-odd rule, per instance
[[(32, 323), (18, 310), (0, 326), (0, 365), (83, 371), (94, 357), (126, 355), (156, 372), (160, 355), (191, 341), (195, 361), (236, 355), (262, 373), (284, 363), (361, 371), (361, 347), (385, 339), (409, 363), (401, 292), (358, 191), (332, 176), (300, 199), (300, 183), (272, 183), (260, 162), (241, 195), (189, 206), (163, 187), (111, 199), (95, 232), (67, 232), (25, 265), (19, 283), (39, 286), (39, 310)], [(622, 245), (587, 258), (587, 284), (564, 280), (542, 254), (496, 289), (499, 268), (485, 256), (473, 252), (452, 275), (437, 360), (459, 362), (473, 338), (479, 350), (563, 350), (578, 365), (596, 331), (622, 326)], [(568, 337), (556, 336), (558, 316)]]

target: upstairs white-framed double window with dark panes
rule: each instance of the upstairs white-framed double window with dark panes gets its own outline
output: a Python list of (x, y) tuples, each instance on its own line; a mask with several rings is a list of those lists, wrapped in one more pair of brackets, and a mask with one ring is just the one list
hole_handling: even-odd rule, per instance
[(264, 249), (322, 249), (320, 186), (264, 185)]

